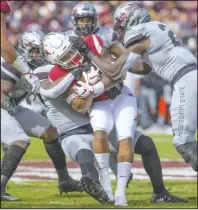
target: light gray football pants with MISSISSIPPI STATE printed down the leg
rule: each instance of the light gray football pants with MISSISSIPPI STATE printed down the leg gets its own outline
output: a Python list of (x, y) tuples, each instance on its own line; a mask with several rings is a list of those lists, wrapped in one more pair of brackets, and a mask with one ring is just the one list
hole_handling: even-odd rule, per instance
[(187, 73), (174, 85), (170, 111), (174, 146), (195, 141), (197, 70)]

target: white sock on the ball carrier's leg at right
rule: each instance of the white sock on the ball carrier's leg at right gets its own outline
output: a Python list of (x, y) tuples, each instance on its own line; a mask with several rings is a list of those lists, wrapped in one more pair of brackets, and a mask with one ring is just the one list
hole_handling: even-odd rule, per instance
[(115, 192), (115, 197), (125, 196), (125, 190), (127, 181), (132, 169), (130, 162), (120, 162), (117, 163), (117, 188)]

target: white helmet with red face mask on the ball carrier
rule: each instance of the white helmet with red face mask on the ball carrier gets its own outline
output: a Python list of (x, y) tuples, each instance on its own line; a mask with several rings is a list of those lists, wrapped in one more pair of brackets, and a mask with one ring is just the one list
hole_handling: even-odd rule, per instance
[(44, 37), (43, 51), (48, 62), (64, 69), (76, 68), (84, 59), (69, 41), (69, 36), (58, 32), (51, 32)]

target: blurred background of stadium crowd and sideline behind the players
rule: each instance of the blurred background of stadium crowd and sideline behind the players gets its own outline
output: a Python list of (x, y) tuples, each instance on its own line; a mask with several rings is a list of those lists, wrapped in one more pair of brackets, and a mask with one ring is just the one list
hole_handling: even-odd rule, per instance
[[(13, 13), (7, 20), (13, 45), (25, 30), (67, 31), (72, 29), (70, 14), (80, 1), (10, 1)], [(99, 26), (113, 26), (113, 13), (125, 1), (92, 1)], [(197, 1), (144, 1), (153, 20), (166, 23), (183, 45), (197, 57)], [(139, 127), (170, 132), (169, 106), (172, 89), (155, 73), (140, 77), (130, 74), (138, 97)], [(128, 81), (127, 81), (128, 82)], [(129, 84), (130, 85), (130, 84)]]

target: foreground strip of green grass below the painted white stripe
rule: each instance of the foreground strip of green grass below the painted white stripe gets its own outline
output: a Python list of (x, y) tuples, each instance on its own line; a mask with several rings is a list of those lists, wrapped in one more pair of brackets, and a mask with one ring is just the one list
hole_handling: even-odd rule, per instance
[[(149, 181), (133, 180), (127, 189), (128, 208), (196, 208), (196, 182), (167, 181), (171, 192), (189, 199), (188, 204), (150, 204), (151, 185)], [(2, 208), (115, 208), (98, 203), (85, 193), (68, 193), (59, 195), (56, 182), (29, 182), (9, 184), (9, 192), (22, 201), (2, 202)], [(115, 182), (113, 183), (115, 189)]]

